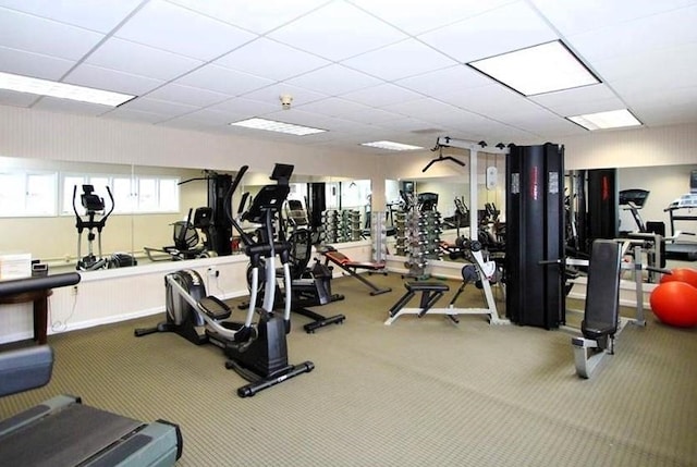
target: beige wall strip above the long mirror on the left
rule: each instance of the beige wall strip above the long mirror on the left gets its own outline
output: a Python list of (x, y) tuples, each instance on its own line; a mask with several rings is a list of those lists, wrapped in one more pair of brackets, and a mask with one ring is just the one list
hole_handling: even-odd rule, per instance
[(297, 174), (365, 177), (377, 159), (274, 140), (144, 125), (0, 106), (0, 156), (270, 173), (274, 162)]

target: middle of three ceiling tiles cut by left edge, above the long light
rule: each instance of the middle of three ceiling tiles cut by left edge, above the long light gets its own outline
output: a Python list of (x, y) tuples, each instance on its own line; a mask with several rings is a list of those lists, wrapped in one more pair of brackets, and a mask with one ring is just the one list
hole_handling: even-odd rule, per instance
[(105, 36), (91, 30), (0, 8), (0, 45), (80, 60)]

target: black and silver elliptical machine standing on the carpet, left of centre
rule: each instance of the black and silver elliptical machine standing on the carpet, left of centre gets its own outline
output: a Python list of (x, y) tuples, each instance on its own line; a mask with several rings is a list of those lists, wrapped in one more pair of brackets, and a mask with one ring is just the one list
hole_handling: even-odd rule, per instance
[[(253, 266), (252, 297), (245, 321), (229, 321), (231, 308), (219, 298), (206, 295), (200, 275), (193, 270), (180, 270), (164, 278), (167, 320), (155, 328), (134, 331), (138, 337), (155, 332), (175, 332), (196, 345), (209, 342), (219, 346), (229, 358), (225, 368), (234, 369), (249, 381), (249, 384), (237, 389), (240, 397), (253, 396), (259, 391), (315, 368), (311, 361), (299, 365), (288, 362), (285, 334), (291, 331), (289, 245), (282, 230), (274, 229), (274, 219), (289, 194), (288, 180), (293, 173), (293, 165), (277, 163), (271, 180), (279, 183), (262, 186), (249, 210), (243, 214), (243, 220), (260, 224), (255, 237), (242, 229), (230, 211), (232, 194), (246, 171), (247, 165), (243, 165), (225, 194), (225, 212), (240, 233), (245, 245), (245, 254)], [(283, 266), (285, 281), (286, 298), (282, 316), (273, 310), (277, 254)], [(267, 267), (262, 268), (262, 263)], [(266, 293), (262, 307), (256, 309), (260, 269), (266, 271)], [(258, 319), (253, 322), (257, 314)]]

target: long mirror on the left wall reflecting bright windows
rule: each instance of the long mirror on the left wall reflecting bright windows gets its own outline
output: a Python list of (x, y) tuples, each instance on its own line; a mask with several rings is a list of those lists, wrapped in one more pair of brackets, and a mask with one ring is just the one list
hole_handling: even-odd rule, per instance
[[(83, 229), (78, 255), (73, 191), (78, 214), (88, 221), (82, 205), (83, 185), (93, 185), (94, 195), (103, 198), (106, 211), (113, 208), (101, 229), (103, 258), (122, 254), (134, 258), (137, 266), (154, 260), (171, 261), (174, 257), (166, 247), (174, 246), (178, 224), (187, 219), (194, 221), (198, 209), (207, 207), (206, 179), (211, 173), (197, 169), (0, 157), (0, 229), (3, 232), (0, 253), (28, 253), (34, 260), (49, 265), (51, 273), (74, 270), (77, 261), (88, 256), (89, 231), (86, 226)], [(233, 176), (234, 172), (215, 174)], [(328, 208), (357, 209), (365, 218), (369, 181), (294, 175), (289, 198), (304, 201), (307, 184), (320, 181), (327, 186)], [(242, 193), (254, 196), (270, 181), (266, 173), (250, 172), (242, 183), (233, 196), (235, 212)], [(99, 221), (102, 217), (96, 214), (94, 219)], [(96, 229), (93, 233), (93, 251), (98, 257), (99, 234)], [(203, 242), (200, 229), (197, 235), (197, 242)], [(188, 241), (195, 248), (194, 241)], [(196, 255), (186, 258), (189, 257)]]

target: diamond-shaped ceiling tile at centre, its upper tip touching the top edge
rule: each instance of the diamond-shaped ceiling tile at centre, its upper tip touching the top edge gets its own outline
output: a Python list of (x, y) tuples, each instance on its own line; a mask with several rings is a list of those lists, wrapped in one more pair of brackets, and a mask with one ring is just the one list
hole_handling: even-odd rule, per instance
[(272, 32), (269, 37), (339, 61), (407, 36), (351, 4), (334, 1)]

